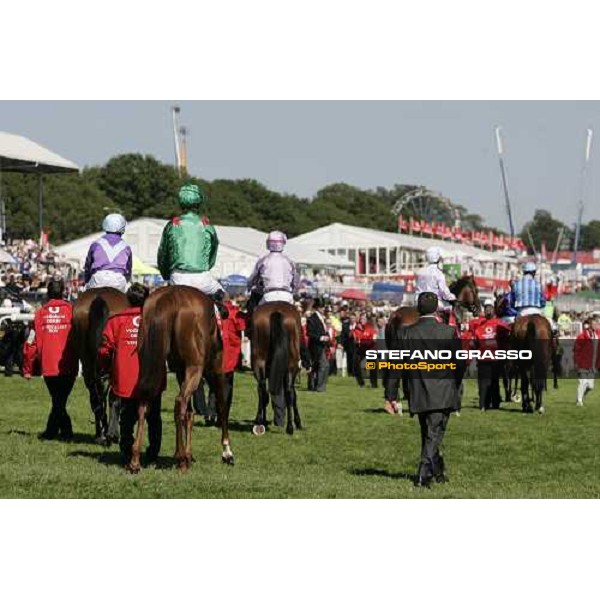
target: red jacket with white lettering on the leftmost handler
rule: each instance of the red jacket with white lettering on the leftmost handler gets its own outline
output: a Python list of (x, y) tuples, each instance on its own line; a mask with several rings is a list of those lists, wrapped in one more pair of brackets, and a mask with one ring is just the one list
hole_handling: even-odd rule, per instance
[(72, 318), (73, 307), (66, 300), (50, 300), (35, 313), (35, 335), (23, 347), (24, 375), (33, 375), (36, 363), (44, 377), (77, 373)]

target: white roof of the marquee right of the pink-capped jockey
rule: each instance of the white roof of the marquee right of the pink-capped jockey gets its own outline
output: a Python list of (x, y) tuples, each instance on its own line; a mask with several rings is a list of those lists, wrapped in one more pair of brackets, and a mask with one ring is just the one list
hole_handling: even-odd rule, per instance
[(367, 227), (356, 227), (342, 223), (332, 223), (308, 233), (303, 233), (292, 240), (302, 242), (312, 248), (352, 248), (352, 247), (386, 247), (396, 246), (409, 250), (425, 252), (430, 246), (438, 246), (444, 258), (464, 259), (473, 258), (478, 261), (488, 262), (516, 262), (514, 258), (507, 257), (499, 252), (488, 252), (468, 244), (458, 244), (444, 240), (422, 238), (404, 233), (378, 231)]

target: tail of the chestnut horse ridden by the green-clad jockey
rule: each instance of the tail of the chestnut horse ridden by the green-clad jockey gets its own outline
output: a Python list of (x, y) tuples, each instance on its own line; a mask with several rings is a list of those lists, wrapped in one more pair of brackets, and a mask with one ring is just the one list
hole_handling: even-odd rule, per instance
[(138, 338), (138, 394), (147, 399), (160, 394), (164, 383), (165, 364), (171, 350), (172, 320), (159, 317), (157, 312), (156, 304), (144, 307)]

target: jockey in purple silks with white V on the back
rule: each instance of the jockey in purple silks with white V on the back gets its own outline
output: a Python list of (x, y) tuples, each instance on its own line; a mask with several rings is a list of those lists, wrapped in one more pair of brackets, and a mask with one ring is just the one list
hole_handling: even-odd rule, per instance
[(121, 239), (127, 225), (123, 215), (107, 215), (102, 222), (105, 234), (92, 243), (85, 261), (85, 289), (112, 287), (125, 293), (131, 279), (132, 255)]

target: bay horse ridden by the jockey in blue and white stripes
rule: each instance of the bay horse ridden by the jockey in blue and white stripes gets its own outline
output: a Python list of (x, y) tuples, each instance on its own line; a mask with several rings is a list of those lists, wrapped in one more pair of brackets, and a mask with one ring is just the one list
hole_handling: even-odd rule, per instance
[(532, 353), (531, 360), (518, 361), (523, 412), (533, 412), (533, 397), (535, 410), (543, 414), (543, 392), (546, 388), (553, 346), (552, 328), (548, 319), (543, 315), (517, 317), (510, 336), (510, 345), (516, 350), (530, 350)]

